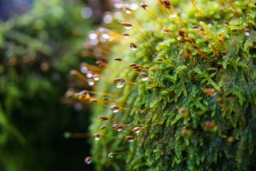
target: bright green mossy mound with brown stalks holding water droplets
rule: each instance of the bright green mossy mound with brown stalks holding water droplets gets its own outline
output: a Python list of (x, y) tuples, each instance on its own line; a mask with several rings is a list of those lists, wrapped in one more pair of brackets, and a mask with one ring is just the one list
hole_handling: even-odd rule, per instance
[(85, 162), (98, 170), (253, 168), (255, 2), (135, 5), (114, 4), (125, 11), (107, 25), (114, 30), (90, 35), (105, 35), (94, 44), (98, 66), (73, 73), (94, 86), (76, 94), (95, 104)]

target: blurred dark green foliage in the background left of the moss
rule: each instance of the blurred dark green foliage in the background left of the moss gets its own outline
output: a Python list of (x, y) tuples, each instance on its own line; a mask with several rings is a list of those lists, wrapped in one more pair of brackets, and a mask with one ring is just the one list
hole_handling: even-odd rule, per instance
[(71, 162), (60, 161), (65, 157), (54, 148), (70, 121), (77, 120), (78, 128), (86, 124), (61, 101), (90, 29), (81, 9), (78, 2), (35, 1), (26, 14), (0, 23), (2, 171), (57, 170), (57, 162)]

